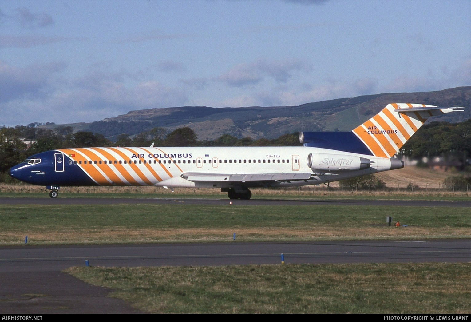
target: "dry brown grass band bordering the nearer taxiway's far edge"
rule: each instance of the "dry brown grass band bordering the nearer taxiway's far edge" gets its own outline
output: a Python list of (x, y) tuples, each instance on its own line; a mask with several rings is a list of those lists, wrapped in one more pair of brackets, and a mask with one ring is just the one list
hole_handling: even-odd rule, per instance
[(0, 232), (0, 243), (13, 245), (22, 243), (28, 236), (29, 244), (83, 244), (83, 243), (146, 243), (173, 241), (231, 241), (233, 233), (237, 241), (273, 240), (352, 240), (352, 239), (430, 239), (430, 238), (471, 238), (470, 229), (455, 228), (176, 228), (176, 229), (126, 229), (103, 228), (77, 231), (17, 231)]

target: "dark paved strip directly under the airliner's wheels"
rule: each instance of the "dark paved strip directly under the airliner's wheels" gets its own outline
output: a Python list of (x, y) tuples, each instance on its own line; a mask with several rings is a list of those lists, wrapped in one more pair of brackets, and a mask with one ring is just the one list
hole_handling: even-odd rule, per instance
[(413, 207), (471, 207), (471, 200), (362, 200), (362, 199), (251, 199), (230, 200), (226, 198), (0, 198), (0, 205), (227, 205), (239, 206), (413, 206)]

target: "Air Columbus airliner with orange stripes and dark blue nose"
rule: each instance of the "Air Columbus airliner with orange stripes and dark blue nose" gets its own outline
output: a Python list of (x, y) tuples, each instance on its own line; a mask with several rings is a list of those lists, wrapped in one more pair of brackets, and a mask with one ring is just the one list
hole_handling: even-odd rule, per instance
[(351, 132), (301, 132), (302, 147), (150, 147), (57, 149), (12, 167), (21, 181), (61, 186), (218, 188), (250, 199), (253, 187), (297, 187), (404, 167), (394, 154), (430, 116), (463, 110), (389, 104)]

